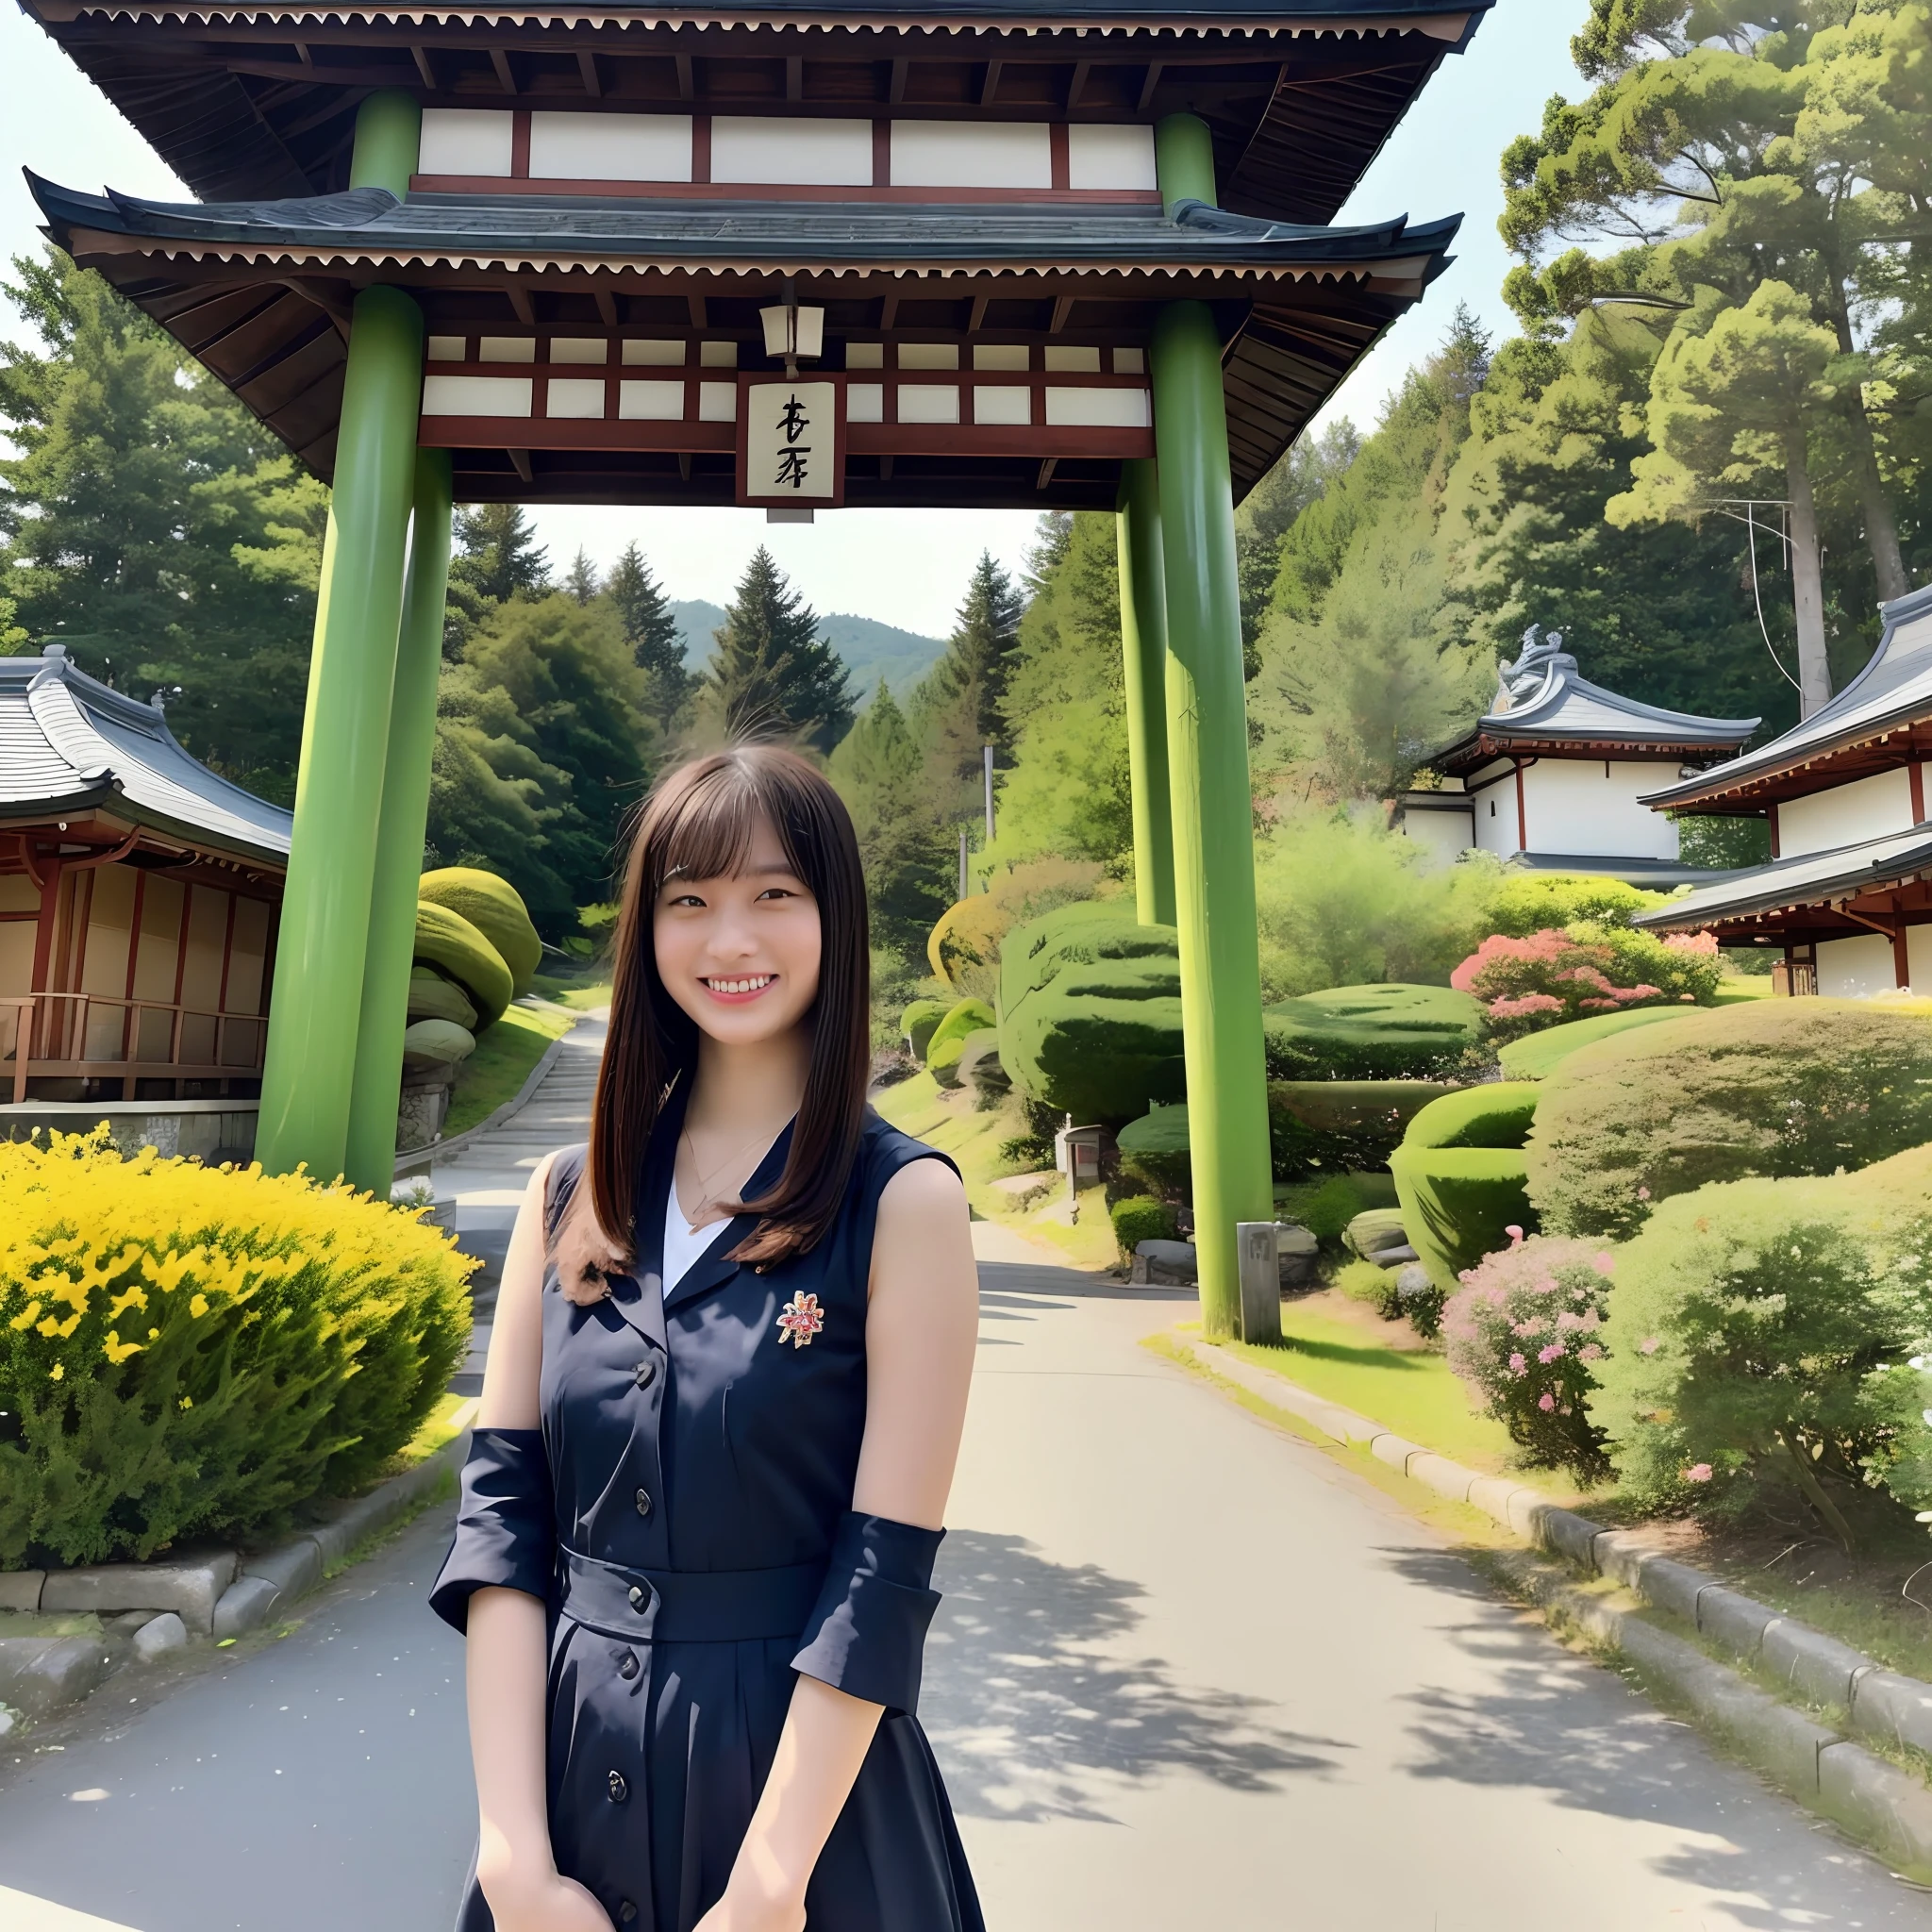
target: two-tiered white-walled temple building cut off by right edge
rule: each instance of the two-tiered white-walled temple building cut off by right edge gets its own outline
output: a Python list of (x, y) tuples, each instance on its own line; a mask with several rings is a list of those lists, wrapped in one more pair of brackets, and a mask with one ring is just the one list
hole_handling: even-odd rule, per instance
[(1652, 792), (1658, 810), (1762, 817), (1772, 862), (1638, 923), (1776, 947), (1785, 993), (1932, 993), (1932, 589), (1884, 607), (1872, 661), (1781, 738)]

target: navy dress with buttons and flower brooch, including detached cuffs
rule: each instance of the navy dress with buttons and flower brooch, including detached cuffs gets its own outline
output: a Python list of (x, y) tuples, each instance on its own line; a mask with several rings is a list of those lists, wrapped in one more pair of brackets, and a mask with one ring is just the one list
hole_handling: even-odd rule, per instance
[[(879, 1194), (945, 1155), (867, 1109), (810, 1254), (730, 1262), (753, 1225), (734, 1219), (667, 1298), (682, 1115), (674, 1094), (645, 1157), (634, 1277), (589, 1308), (545, 1277), (543, 1426), (475, 1432), (431, 1604), (456, 1629), (485, 1586), (549, 1605), (551, 1845), (618, 1932), (692, 1932), (717, 1903), (796, 1673), (887, 1708), (806, 1891), (808, 1932), (983, 1932), (914, 1716), (945, 1532), (852, 1509)], [(790, 1128), (746, 1196), (788, 1146)], [(553, 1165), (553, 1229), (582, 1169), (582, 1148)], [(471, 1872), (458, 1932), (491, 1924)]]

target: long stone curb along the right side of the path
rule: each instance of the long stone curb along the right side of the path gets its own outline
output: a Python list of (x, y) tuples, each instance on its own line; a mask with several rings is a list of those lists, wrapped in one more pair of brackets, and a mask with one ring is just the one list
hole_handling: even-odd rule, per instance
[[(1650, 1549), (1627, 1530), (1605, 1530), (1573, 1509), (1559, 1509), (1538, 1490), (1503, 1476), (1478, 1476), (1211, 1343), (1186, 1347), (1202, 1368), (1273, 1408), (1300, 1416), (1335, 1441), (1368, 1443), (1378, 1463), (1399, 1468), (1437, 1495), (1480, 1509), (1586, 1577), (1623, 1584), (1652, 1607), (1692, 1625), (1714, 1648), (1770, 1671), (1806, 1702), (1845, 1712), (1851, 1731), (1888, 1748), (1932, 1754), (1932, 1685), (1882, 1669), (1849, 1644), (1731, 1590), (1708, 1571)], [(1741, 1756), (1783, 1789), (1837, 1818), (1893, 1864), (1932, 1874), (1932, 1791), (1922, 1779), (1777, 1702), (1694, 1644), (1563, 1584), (1548, 1571), (1530, 1594), (1561, 1609), (1598, 1642), (1621, 1650), (1638, 1669), (1669, 1683)]]

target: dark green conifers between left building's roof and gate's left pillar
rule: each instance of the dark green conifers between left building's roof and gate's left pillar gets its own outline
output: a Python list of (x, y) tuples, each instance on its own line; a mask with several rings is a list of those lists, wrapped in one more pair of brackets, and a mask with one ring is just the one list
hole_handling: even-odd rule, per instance
[(48, 251), (4, 294), (39, 342), (0, 350), (0, 647), (182, 686), (189, 752), (294, 798), (328, 493), (100, 276)]

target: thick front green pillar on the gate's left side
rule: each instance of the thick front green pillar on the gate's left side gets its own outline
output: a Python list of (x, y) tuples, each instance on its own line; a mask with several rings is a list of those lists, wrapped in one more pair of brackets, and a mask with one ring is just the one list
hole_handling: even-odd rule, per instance
[[(371, 95), (350, 180), (406, 191), (415, 102)], [(398, 288), (355, 298), (336, 435), (336, 483), (315, 601), (296, 837), (269, 1007), (255, 1155), (270, 1173), (344, 1171), (388, 759), (402, 560), (423, 396), (423, 311)]]

